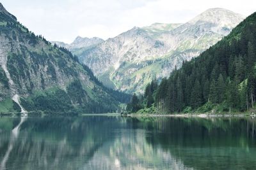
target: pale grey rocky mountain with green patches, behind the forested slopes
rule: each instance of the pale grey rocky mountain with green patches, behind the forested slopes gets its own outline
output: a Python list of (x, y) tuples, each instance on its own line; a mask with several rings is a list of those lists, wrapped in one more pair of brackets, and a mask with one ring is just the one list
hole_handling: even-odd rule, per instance
[(154, 78), (161, 80), (220, 41), (243, 16), (214, 8), (185, 24), (152, 24), (134, 27), (80, 52), (104, 85), (124, 92), (143, 92)]

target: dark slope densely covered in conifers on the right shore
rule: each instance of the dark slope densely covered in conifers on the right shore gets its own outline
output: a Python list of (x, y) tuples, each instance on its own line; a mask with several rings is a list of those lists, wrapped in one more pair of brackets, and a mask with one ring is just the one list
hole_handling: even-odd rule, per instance
[(255, 112), (255, 96), (256, 13), (253, 13), (216, 45), (184, 62), (159, 87), (154, 81), (150, 83), (141, 104), (134, 95), (129, 111), (145, 107), (167, 113)]

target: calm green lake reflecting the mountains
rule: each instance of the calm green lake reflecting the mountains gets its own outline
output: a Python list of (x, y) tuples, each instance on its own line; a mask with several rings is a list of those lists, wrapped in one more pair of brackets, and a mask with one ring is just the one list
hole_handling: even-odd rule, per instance
[(0, 117), (0, 169), (256, 169), (253, 118)]

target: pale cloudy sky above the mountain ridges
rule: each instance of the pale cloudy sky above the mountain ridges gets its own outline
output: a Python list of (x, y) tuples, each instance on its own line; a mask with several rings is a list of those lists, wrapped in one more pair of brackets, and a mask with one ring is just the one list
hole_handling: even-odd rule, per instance
[(19, 22), (49, 41), (71, 43), (77, 36), (113, 38), (134, 26), (184, 23), (209, 8), (245, 17), (255, 0), (2, 0)]

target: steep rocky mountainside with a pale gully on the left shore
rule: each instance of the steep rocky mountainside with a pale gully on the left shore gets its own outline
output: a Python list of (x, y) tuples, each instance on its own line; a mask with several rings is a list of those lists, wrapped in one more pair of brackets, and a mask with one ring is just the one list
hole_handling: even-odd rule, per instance
[(107, 89), (65, 48), (17, 22), (0, 4), (0, 112), (118, 110), (129, 96)]

